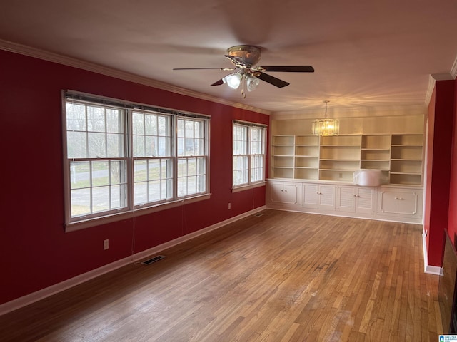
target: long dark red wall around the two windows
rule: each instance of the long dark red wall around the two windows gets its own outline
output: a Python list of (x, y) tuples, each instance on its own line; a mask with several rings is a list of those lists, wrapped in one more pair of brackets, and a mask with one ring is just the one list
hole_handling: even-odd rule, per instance
[[(211, 199), (65, 233), (61, 89), (211, 115)], [(0, 304), (265, 204), (265, 187), (231, 192), (231, 121), (268, 115), (6, 51), (0, 94)]]

